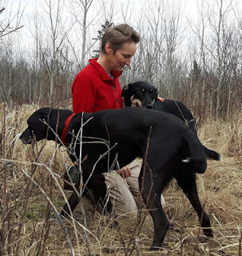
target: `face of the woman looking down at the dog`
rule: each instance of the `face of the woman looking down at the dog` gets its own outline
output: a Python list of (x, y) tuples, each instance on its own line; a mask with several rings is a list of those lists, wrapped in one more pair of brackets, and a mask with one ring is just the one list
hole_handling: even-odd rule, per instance
[(107, 56), (110, 70), (121, 71), (126, 65), (129, 66), (136, 50), (137, 45), (135, 42), (125, 42), (115, 53), (110, 50)]

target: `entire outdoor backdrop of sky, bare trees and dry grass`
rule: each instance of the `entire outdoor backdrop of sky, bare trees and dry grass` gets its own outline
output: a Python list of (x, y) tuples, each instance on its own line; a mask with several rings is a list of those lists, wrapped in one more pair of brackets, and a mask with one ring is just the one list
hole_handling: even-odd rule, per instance
[[(26, 120), (42, 106), (71, 109), (71, 85), (98, 55), (109, 26), (126, 22), (141, 34), (121, 86), (153, 83), (161, 97), (183, 102), (200, 141), (223, 162), (198, 177), (214, 238), (201, 234), (176, 182), (164, 191), (166, 246), (149, 251), (153, 222), (101, 214), (86, 198), (58, 222), (70, 160), (55, 142), (24, 145)], [(242, 5), (237, 0), (0, 0), (0, 256), (242, 255)]]

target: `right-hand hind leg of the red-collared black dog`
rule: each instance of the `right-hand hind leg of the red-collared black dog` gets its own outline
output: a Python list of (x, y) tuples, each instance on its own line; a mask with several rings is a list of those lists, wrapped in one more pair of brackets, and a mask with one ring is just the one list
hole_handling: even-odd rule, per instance
[(185, 177), (176, 177), (178, 185), (181, 186), (184, 194), (191, 202), (196, 214), (199, 218), (200, 225), (203, 228), (204, 235), (213, 237), (212, 228), (208, 215), (205, 213), (203, 206), (200, 203), (199, 196), (196, 189), (196, 174), (192, 171), (187, 170)]

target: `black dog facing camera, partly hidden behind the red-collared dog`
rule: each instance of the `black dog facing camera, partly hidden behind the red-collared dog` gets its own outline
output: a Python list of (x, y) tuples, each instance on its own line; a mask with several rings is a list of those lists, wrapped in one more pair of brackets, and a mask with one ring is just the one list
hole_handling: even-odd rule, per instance
[[(138, 81), (129, 83), (122, 90), (122, 96), (124, 97), (125, 106), (131, 106), (130, 98), (138, 99), (141, 102), (142, 107), (148, 109), (158, 110), (169, 114), (175, 114), (178, 118), (184, 121), (188, 127), (196, 133), (196, 120), (193, 118), (192, 113), (181, 102), (165, 99), (161, 102), (157, 99), (157, 89), (149, 82)], [(209, 150), (204, 146), (204, 152), (208, 159), (220, 160), (220, 154), (213, 150)]]

